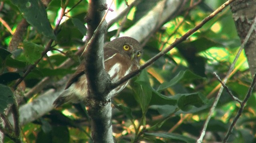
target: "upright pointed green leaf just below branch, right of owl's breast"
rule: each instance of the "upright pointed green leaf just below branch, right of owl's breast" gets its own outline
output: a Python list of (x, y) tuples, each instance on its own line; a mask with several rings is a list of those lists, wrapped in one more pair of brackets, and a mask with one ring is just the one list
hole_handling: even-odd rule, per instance
[(146, 113), (153, 92), (147, 71), (143, 70), (131, 86), (134, 91), (134, 98), (140, 104), (142, 113)]

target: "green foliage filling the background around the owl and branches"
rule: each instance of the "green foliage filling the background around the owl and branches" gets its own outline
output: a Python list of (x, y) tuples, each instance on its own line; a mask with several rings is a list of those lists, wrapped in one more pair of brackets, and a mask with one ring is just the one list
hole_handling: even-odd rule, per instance
[[(191, 10), (188, 4), (184, 5), (182, 12), (157, 29), (150, 37), (144, 46), (141, 63), (168, 47), (223, 2), (225, 0), (218, 2), (206, 0)], [(142, 1), (135, 10), (131, 10), (128, 14), (128, 18), (131, 18), (125, 22), (124, 25), (127, 27), (122, 27), (121, 33), (136, 23), (145, 11), (150, 10), (154, 1), (149, 3), (148, 9), (144, 7), (145, 3), (146, 0)], [(78, 65), (79, 61), (75, 52), (84, 45), (82, 39), (87, 31), (84, 26), (86, 24), (84, 17), (88, 9), (87, 1), (52, 0), (46, 10), (40, 0), (27, 0), (24, 4), (20, 0), (4, 0), (3, 8), (0, 10), (0, 17), (12, 27), (13, 31), (22, 17), (30, 24), (24, 35), (24, 41), (15, 51), (8, 50), (13, 35), (3, 24), (0, 25), (2, 31), (0, 33), (0, 113), (4, 112), (8, 104), (14, 102), (10, 88), (14, 86), (16, 79), (24, 75), (28, 66), (41, 58), (50, 39), (55, 41), (51, 44), (52, 47), (49, 48), (47, 55), (44, 55), (24, 78), (25, 94), (45, 77), (50, 76), (54, 82), (58, 82), (64, 76), (73, 73), (73, 67)], [(58, 26), (61, 8), (65, 6), (70, 12), (66, 13)], [(31, 9), (28, 10), (28, 7)], [(124, 9), (125, 1), (118, 0), (116, 7)], [(118, 23), (119, 21), (113, 27), (120, 28)], [(113, 37), (117, 29), (108, 31), (106, 39)], [(240, 39), (235, 31), (231, 12), (224, 10), (186, 41), (132, 78), (130, 86), (113, 99), (112, 124), (116, 142), (194, 143), (200, 136), (210, 106), (221, 86), (212, 73), (216, 72), (220, 77), (224, 77), (240, 47)], [(75, 64), (70, 68), (58, 69), (58, 66), (69, 58), (76, 61)], [(10, 68), (16, 70), (10, 71)], [(246, 55), (242, 53), (227, 86), (242, 100), (250, 82), (252, 78)], [(40, 96), (53, 87), (58, 88), (54, 83), (48, 83), (35, 96)], [(18, 94), (18, 96), (25, 99), (20, 102), (20, 106), (35, 98), (34, 95), (23, 97), (22, 94)], [(254, 139), (255, 105), (256, 93), (253, 92), (230, 136), (230, 142), (256, 141)], [(23, 125), (22, 140), (37, 143), (90, 141), (90, 119), (86, 111), (75, 107), (66, 104)], [(222, 141), (239, 107), (240, 105), (224, 91), (210, 120), (204, 141)], [(4, 141), (12, 142), (7, 136)]]

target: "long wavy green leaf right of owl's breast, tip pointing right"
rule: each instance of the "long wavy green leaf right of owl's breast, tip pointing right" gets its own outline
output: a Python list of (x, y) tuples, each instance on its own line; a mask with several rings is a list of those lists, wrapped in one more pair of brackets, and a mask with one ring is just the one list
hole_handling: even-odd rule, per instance
[(194, 74), (193, 72), (191, 72), (189, 70), (180, 71), (174, 78), (172, 78), (172, 80), (170, 80), (169, 82), (162, 83), (158, 87), (157, 91), (162, 91), (166, 88), (169, 88), (169, 87), (177, 84), (178, 82), (180, 82), (183, 79), (186, 80), (186, 82), (190, 82), (195, 79), (203, 79), (203, 78), (201, 76)]

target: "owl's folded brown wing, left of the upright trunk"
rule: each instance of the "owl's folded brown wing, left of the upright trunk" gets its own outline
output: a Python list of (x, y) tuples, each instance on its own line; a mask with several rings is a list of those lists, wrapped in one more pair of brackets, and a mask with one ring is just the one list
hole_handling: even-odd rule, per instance
[(72, 83), (77, 82), (79, 77), (84, 74), (84, 60), (80, 63), (80, 65), (77, 67), (77, 70), (70, 78), (68, 79), (68, 83), (65, 87), (65, 89), (68, 89), (69, 86), (71, 86)]

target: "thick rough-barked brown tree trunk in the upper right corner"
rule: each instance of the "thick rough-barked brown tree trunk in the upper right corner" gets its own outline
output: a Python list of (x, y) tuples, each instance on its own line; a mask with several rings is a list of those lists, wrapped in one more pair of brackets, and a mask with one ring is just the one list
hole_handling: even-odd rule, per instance
[[(254, 19), (256, 12), (256, 0), (236, 0), (230, 4), (233, 13), (233, 19), (236, 24), (236, 30), (241, 39), (244, 41)], [(256, 71), (256, 31), (252, 32), (244, 50), (249, 63), (251, 75)]]

